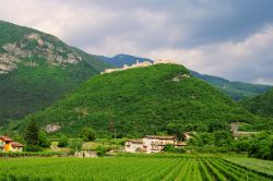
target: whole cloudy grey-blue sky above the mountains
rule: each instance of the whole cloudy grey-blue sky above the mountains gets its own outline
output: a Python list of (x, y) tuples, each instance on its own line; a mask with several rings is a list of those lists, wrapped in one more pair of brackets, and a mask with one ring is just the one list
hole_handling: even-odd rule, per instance
[(95, 53), (273, 85), (273, 0), (0, 0), (0, 19)]

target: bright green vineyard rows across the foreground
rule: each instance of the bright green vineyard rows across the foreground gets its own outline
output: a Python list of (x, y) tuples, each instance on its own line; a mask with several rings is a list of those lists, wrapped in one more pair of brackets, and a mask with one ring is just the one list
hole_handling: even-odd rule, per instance
[(247, 162), (248, 158), (238, 159), (204, 156), (2, 158), (0, 180), (273, 180), (266, 171), (272, 169), (272, 161), (251, 159), (252, 166), (249, 166), (242, 161)]

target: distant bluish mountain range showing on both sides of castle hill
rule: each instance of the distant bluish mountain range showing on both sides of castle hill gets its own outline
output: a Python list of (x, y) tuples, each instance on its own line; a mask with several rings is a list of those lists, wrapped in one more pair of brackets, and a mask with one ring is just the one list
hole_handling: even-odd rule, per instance
[[(139, 60), (140, 62), (143, 62), (143, 61), (153, 62), (153, 60), (151, 59), (139, 58), (139, 57), (129, 56), (129, 55), (117, 55), (112, 58), (97, 56), (97, 58), (116, 68), (122, 68), (123, 64), (128, 64), (128, 65), (134, 64), (136, 60)], [(230, 82), (228, 80), (217, 77), (217, 76), (200, 74), (194, 71), (190, 71), (190, 72), (193, 76), (207, 82), (209, 84), (213, 85), (221, 92), (227, 94), (234, 100), (240, 100), (247, 97), (254, 97), (272, 88), (272, 86), (269, 86), (269, 85), (249, 84), (249, 83), (242, 83), (242, 82)]]

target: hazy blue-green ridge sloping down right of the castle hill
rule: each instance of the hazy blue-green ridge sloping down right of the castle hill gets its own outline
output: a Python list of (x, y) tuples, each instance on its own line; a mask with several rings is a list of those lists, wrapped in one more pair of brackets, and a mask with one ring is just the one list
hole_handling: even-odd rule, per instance
[(240, 99), (248, 98), (248, 97), (254, 97), (272, 88), (272, 86), (270, 85), (232, 82), (232, 81), (217, 77), (217, 76), (200, 74), (194, 71), (191, 71), (191, 74), (195, 77), (199, 77), (210, 83), (214, 87), (218, 88), (221, 92), (227, 94), (234, 100), (240, 100)]

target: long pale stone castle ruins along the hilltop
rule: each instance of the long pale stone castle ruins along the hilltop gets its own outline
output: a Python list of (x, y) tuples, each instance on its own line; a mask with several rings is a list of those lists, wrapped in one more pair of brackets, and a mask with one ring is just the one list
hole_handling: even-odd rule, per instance
[(159, 63), (164, 63), (164, 64), (167, 64), (167, 63), (178, 64), (177, 62), (171, 61), (171, 60), (155, 60), (153, 62), (150, 62), (150, 61), (140, 62), (139, 60), (136, 60), (135, 64), (132, 64), (132, 65), (124, 64), (123, 68), (106, 69), (104, 72), (100, 72), (100, 74), (111, 73), (111, 72), (116, 72), (116, 71), (123, 71), (123, 70), (133, 69), (133, 68), (145, 68), (145, 67), (150, 67), (150, 65), (153, 65), (153, 64), (159, 64)]

